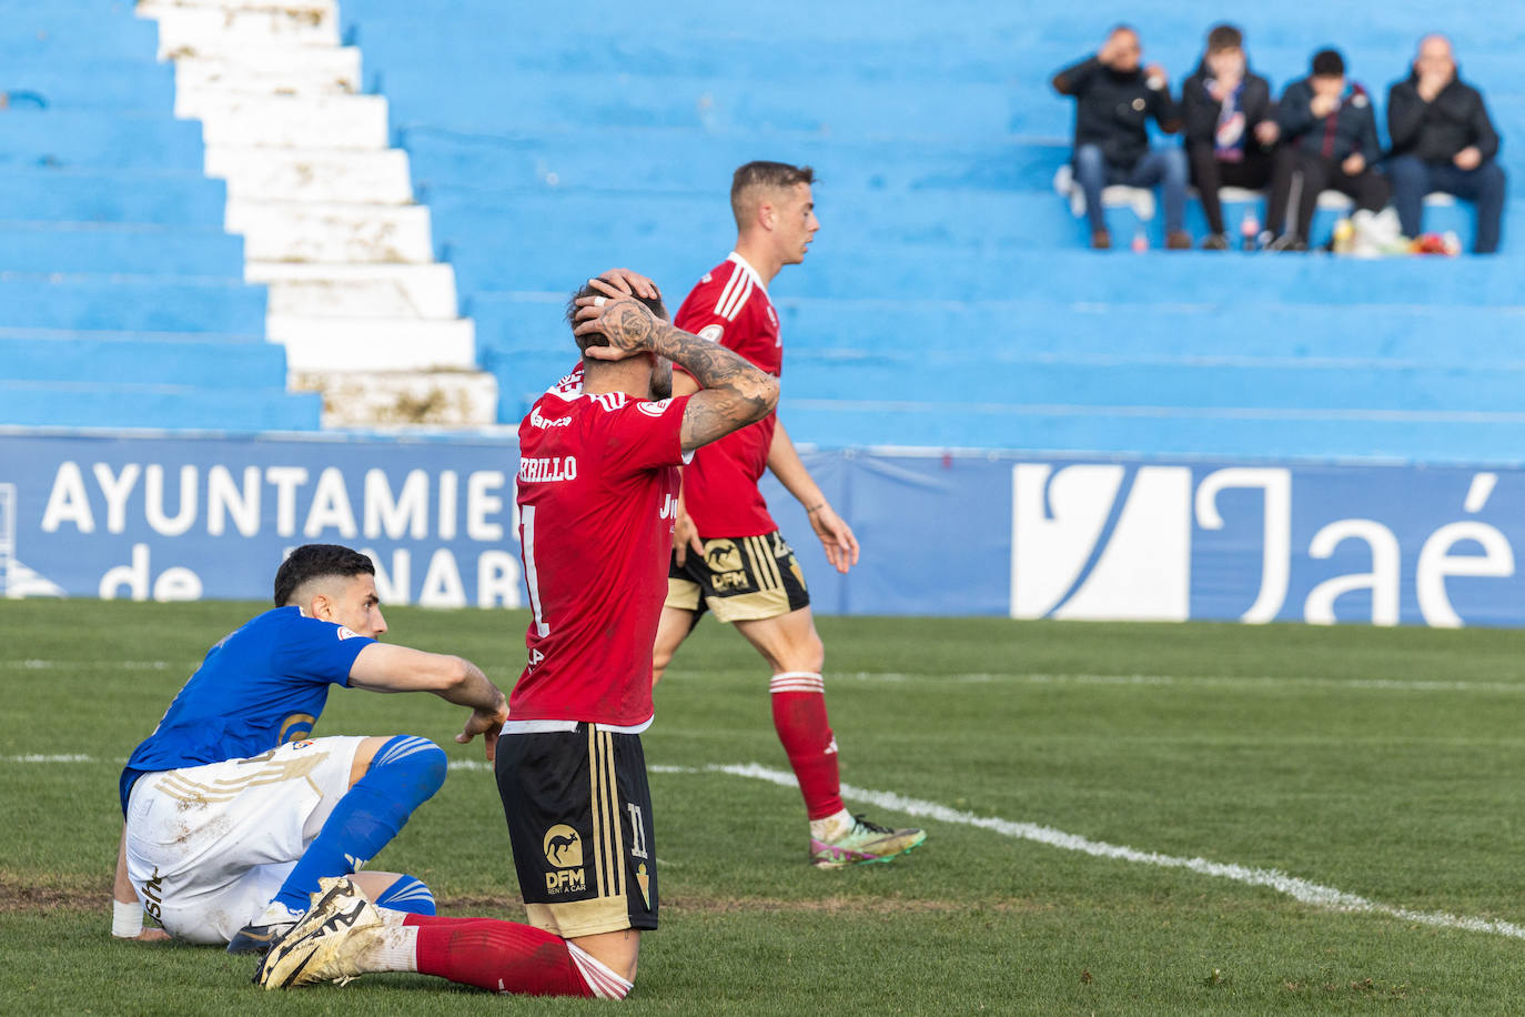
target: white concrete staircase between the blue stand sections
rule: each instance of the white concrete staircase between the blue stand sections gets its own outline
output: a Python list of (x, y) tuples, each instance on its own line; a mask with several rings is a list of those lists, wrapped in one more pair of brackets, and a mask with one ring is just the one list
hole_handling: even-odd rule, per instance
[(201, 120), (206, 172), (227, 181), (246, 279), (268, 287), (267, 335), (323, 424), (476, 425), (497, 418), (454, 271), (387, 102), (360, 95), (360, 50), (336, 0), (140, 0), (175, 64), (175, 116)]

